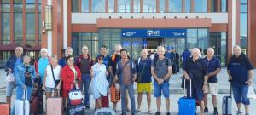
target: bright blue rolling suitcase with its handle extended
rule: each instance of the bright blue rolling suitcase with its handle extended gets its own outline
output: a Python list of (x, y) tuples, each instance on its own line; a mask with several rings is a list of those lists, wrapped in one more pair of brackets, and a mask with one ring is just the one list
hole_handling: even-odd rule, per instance
[(192, 85), (190, 81), (190, 97), (186, 96), (186, 81), (184, 79), (184, 96), (178, 100), (179, 115), (195, 115), (195, 99), (192, 98)]

